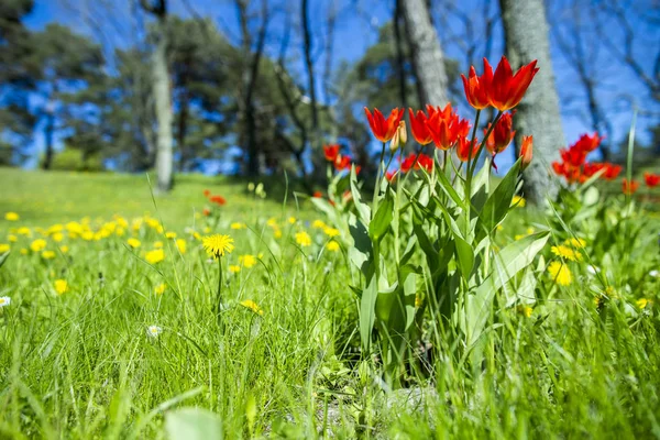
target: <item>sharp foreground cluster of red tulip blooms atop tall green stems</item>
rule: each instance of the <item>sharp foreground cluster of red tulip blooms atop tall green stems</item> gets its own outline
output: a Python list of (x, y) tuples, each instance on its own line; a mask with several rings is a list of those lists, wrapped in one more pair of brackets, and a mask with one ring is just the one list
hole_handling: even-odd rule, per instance
[[(468, 78), (462, 76), (465, 97), (468, 102), (477, 110), (477, 118), (479, 111), (487, 107), (498, 110), (493, 124), (488, 124), (484, 130), (485, 142), (482, 142), (483, 145), (474, 136), (474, 132), (470, 139), (470, 129), (472, 128), (470, 121), (460, 118), (452, 109), (451, 103), (444, 108), (427, 105), (426, 111), (408, 109), (413, 138), (422, 146), (433, 143), (436, 148), (444, 152), (455, 148), (457, 156), (464, 163), (476, 160), (483, 146), (495, 157), (506, 150), (516, 134), (515, 130), (512, 130), (515, 111), (507, 112), (507, 110), (520, 102), (537, 72), (535, 61), (514, 74), (508, 61), (503, 56), (495, 73), (484, 58), (484, 72), (481, 76), (476, 75), (474, 67), (470, 68)], [(366, 108), (364, 111), (374, 136), (383, 143), (391, 142), (393, 152), (398, 148), (399, 144), (406, 142), (406, 124), (402, 120), (404, 109), (392, 110), (387, 118), (378, 109), (374, 109), (373, 113)], [(531, 136), (524, 138), (520, 153), (525, 167), (531, 162)], [(400, 157), (402, 173), (420, 168), (430, 170), (432, 166), (433, 158), (421, 152)], [(386, 174), (389, 179), (395, 175), (396, 173), (392, 172)]]

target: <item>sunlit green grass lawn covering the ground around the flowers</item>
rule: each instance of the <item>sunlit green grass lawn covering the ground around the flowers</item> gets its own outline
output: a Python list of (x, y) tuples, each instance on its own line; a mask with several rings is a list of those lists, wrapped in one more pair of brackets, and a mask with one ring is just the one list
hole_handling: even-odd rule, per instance
[[(498, 305), (483, 365), (457, 359), (447, 341), (428, 334), (431, 373), (408, 382), (425, 395), (416, 406), (383, 392), (377, 361), (360, 362), (349, 287), (359, 276), (346, 261), (348, 233), (338, 239), (342, 250), (329, 252), (321, 230), (287, 221), (321, 218), (308, 206), (300, 212), (282, 198), (255, 200), (244, 182), (201, 176), (177, 178), (155, 207), (143, 176), (1, 169), (0, 185), (0, 211), (21, 216), (0, 220), (0, 243), (20, 226), (33, 234), (11, 243), (0, 268), (0, 296), (11, 297), (0, 308), (0, 438), (166, 438), (168, 414), (190, 406), (215, 413), (231, 439), (314, 438), (323, 428), (339, 438), (660, 437), (660, 278), (648, 275), (659, 266), (658, 226), (642, 226), (644, 217), (635, 220), (637, 235), (606, 251), (590, 237), (585, 255), (614, 289), (600, 306), (598, 280), (586, 264), (570, 263), (569, 287), (537, 274), (531, 317)], [(205, 188), (227, 197), (211, 229), (237, 246), (223, 258), (220, 319), (218, 264), (185, 232), (206, 226), (195, 217)], [(507, 220), (502, 240), (531, 222), (547, 227), (526, 209)], [(52, 260), (20, 252), (37, 238), (35, 227), (146, 211), (185, 238), (185, 254), (145, 226), (99, 241), (50, 238), (47, 249), (69, 248)], [(282, 237), (266, 222), (273, 217)], [(231, 230), (237, 221), (248, 229)], [(300, 231), (312, 245), (296, 243)], [(134, 251), (131, 234), (142, 242)], [(166, 257), (148, 264), (144, 252), (156, 241)], [(230, 275), (243, 254), (261, 256)], [(63, 295), (55, 294), (57, 278), (68, 283)], [(162, 283), (167, 288), (157, 296)], [(639, 298), (652, 304), (639, 309)], [(240, 306), (244, 299), (263, 316)], [(147, 336), (153, 324), (163, 330), (157, 338)]]

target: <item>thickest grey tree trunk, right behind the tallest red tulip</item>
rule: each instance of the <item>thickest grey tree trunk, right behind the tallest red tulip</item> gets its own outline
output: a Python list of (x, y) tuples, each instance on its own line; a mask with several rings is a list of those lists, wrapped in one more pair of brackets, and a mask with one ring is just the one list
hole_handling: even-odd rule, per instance
[(525, 197), (539, 205), (557, 194), (550, 164), (559, 157), (559, 147), (564, 144), (546, 11), (542, 0), (499, 0), (499, 7), (512, 67), (538, 59), (540, 68), (514, 118), (516, 145), (520, 145), (522, 135), (534, 135), (534, 161), (525, 170), (524, 189)]

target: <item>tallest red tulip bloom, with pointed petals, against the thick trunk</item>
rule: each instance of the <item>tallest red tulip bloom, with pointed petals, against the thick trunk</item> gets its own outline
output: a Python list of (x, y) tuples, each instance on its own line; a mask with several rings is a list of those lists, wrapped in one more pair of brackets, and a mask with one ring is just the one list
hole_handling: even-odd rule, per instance
[[(535, 59), (520, 67), (514, 75), (508, 59), (503, 56), (495, 69), (490, 87), (491, 106), (499, 111), (506, 111), (520, 103), (534, 76), (539, 72), (536, 64), (537, 61)], [(463, 80), (463, 82), (465, 81)]]

